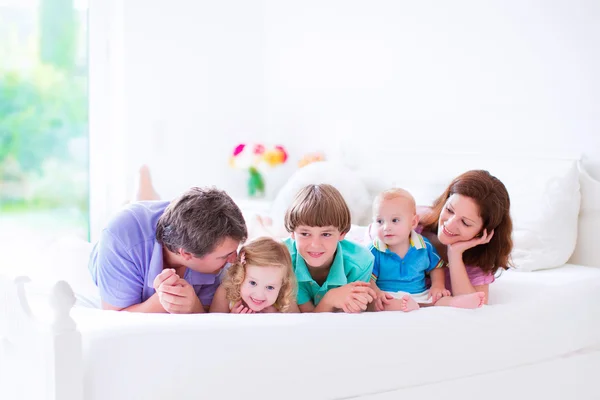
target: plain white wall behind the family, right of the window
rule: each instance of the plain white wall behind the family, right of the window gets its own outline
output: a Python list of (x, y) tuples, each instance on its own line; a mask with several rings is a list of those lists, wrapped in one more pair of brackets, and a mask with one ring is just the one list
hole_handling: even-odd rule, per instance
[(125, 165), (164, 197), (243, 195), (227, 158), (248, 140), (291, 150), (270, 196), (340, 143), (582, 153), (600, 177), (600, 2), (123, 3)]

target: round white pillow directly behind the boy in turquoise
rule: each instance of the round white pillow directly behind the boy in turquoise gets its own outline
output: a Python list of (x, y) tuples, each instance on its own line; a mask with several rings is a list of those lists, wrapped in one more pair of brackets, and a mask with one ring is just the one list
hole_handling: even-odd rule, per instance
[(272, 234), (286, 236), (284, 219), (294, 197), (306, 185), (327, 183), (335, 186), (348, 203), (352, 223), (364, 224), (370, 218), (371, 197), (363, 180), (341, 164), (321, 161), (297, 170), (281, 188), (271, 208)]

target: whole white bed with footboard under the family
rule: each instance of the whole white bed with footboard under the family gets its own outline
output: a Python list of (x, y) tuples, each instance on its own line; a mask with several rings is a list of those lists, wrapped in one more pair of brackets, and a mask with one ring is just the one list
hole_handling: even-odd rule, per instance
[[(583, 237), (578, 262), (600, 265)], [(541, 253), (559, 262), (554, 246), (532, 258), (537, 242), (519, 243), (516, 259), (529, 269), (550, 267)], [(598, 399), (600, 268), (552, 266), (503, 273), (482, 309), (408, 314), (118, 313), (72, 308), (79, 286), (64, 281), (50, 301), (30, 296), (31, 311), (23, 288), (36, 283), (3, 280), (0, 398)]]

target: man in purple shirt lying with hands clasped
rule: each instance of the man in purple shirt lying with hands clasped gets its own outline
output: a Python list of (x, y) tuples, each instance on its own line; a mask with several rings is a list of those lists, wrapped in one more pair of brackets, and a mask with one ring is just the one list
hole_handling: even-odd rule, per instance
[(172, 202), (131, 203), (109, 222), (90, 256), (102, 307), (203, 313), (247, 235), (239, 207), (215, 188), (191, 188)]

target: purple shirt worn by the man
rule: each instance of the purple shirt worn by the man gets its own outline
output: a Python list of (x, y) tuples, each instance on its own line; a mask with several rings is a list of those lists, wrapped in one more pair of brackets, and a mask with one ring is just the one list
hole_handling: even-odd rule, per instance
[[(163, 249), (156, 241), (156, 223), (168, 201), (142, 201), (127, 205), (102, 231), (90, 255), (89, 270), (105, 303), (129, 307), (148, 300), (154, 278), (163, 270)], [(186, 269), (184, 279), (196, 290), (204, 306), (210, 305), (220, 274)]]

